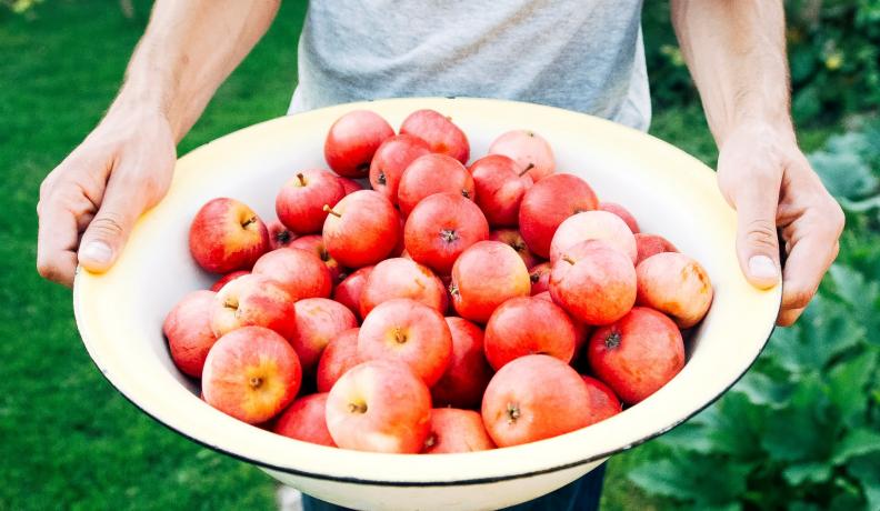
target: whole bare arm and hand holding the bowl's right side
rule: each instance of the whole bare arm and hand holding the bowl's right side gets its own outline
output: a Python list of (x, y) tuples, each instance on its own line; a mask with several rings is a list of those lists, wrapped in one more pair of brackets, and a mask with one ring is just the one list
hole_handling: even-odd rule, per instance
[(759, 288), (779, 282), (793, 323), (838, 252), (843, 212), (798, 148), (789, 116), (781, 0), (672, 0), (672, 23), (719, 148), (718, 183), (737, 209), (737, 254)]

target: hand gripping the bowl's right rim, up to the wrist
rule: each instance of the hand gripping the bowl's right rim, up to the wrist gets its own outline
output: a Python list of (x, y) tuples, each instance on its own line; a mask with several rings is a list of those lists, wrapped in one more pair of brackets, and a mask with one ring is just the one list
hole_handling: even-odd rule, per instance
[(777, 324), (793, 324), (837, 258), (843, 211), (790, 129), (752, 123), (730, 132), (720, 147), (718, 184), (737, 210), (740, 267), (758, 288), (779, 282), (781, 230), (787, 258)]

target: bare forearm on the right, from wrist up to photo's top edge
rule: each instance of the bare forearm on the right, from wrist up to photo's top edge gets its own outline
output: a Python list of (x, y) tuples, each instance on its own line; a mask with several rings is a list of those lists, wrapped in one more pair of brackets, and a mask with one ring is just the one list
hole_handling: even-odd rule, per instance
[(672, 0), (672, 23), (719, 147), (749, 123), (793, 137), (781, 0)]

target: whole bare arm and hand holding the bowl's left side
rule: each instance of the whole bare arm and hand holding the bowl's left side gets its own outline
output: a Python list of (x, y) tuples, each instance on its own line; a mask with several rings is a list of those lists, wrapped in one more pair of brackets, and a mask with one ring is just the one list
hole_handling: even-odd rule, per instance
[(168, 190), (176, 144), (266, 32), (280, 0), (158, 0), (119, 96), (40, 187), (37, 269), (106, 271)]

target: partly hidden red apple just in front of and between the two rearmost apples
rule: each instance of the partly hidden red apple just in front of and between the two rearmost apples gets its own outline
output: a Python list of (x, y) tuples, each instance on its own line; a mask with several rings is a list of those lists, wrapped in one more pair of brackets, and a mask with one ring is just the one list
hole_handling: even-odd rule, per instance
[(370, 163), (370, 186), (397, 204), (398, 184), (403, 171), (419, 157), (430, 154), (428, 143), (411, 134), (398, 134), (382, 142)]

